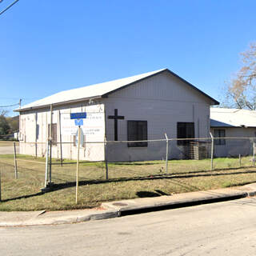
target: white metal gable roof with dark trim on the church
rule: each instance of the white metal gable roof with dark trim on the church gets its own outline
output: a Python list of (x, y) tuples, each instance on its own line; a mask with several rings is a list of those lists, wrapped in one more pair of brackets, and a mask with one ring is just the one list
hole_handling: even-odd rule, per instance
[(211, 98), (209, 95), (202, 92), (202, 90), (199, 90), (198, 88), (190, 84), (190, 82), (186, 82), (186, 80), (184, 80), (183, 78), (180, 78), (177, 74), (174, 74), (172, 71), (168, 69), (162, 69), (162, 70), (155, 70), (155, 71), (144, 73), (144, 74), (134, 75), (128, 78), (121, 78), (121, 79), (117, 79), (109, 82), (94, 84), (91, 86), (84, 86), (84, 87), (80, 87), (73, 90), (64, 90), (57, 94), (50, 95), (49, 97), (42, 98), (36, 102), (32, 102), (30, 104), (22, 106), (21, 109), (17, 109), (14, 111), (38, 109), (38, 108), (50, 106), (51, 104), (61, 105), (61, 104), (70, 103), (70, 102), (80, 102), (80, 101), (91, 99), (91, 98), (104, 98), (104, 97), (107, 97), (108, 94), (113, 93), (114, 91), (122, 90), (126, 86), (130, 86), (136, 82), (140, 82), (146, 78), (150, 78), (154, 75), (161, 74), (162, 72), (165, 72), (165, 71), (179, 78), (180, 80), (182, 80), (182, 82), (185, 82), (186, 85), (194, 88), (194, 90), (198, 90), (198, 92), (206, 96), (206, 98), (210, 98), (210, 101), (213, 102), (213, 105), (219, 104), (219, 102), (216, 101), (214, 98)]

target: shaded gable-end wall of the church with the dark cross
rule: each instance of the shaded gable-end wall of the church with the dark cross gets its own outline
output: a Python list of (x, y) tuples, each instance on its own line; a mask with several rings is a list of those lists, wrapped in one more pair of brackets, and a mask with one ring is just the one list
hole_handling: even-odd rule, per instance
[[(194, 122), (195, 137), (210, 137), (210, 99), (198, 94), (170, 74), (158, 74), (110, 94), (106, 105), (106, 138), (114, 141), (114, 120), (118, 109), (118, 140), (127, 140), (127, 121), (147, 121), (148, 139), (177, 138), (177, 122)], [(169, 158), (182, 158), (183, 146), (171, 142)], [(140, 161), (166, 157), (166, 142), (150, 142), (147, 147), (108, 144), (108, 161)]]

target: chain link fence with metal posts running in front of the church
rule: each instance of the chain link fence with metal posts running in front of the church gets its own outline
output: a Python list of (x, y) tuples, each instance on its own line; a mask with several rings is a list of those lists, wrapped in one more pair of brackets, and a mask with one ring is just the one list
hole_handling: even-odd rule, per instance
[(80, 186), (247, 168), (255, 163), (255, 142), (255, 138), (167, 137), (82, 142), (78, 154), (74, 142), (0, 141), (0, 199), (33, 196), (47, 186), (53, 190), (59, 186), (76, 186), (77, 180)]

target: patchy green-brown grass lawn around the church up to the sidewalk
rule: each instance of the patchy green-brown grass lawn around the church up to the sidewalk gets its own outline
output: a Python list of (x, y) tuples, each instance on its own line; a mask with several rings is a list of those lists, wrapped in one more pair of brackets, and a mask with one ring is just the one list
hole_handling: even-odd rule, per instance
[(53, 160), (52, 181), (56, 190), (41, 194), (45, 178), (45, 159), (18, 155), (18, 179), (14, 178), (12, 155), (0, 155), (2, 202), (0, 210), (67, 210), (99, 206), (102, 202), (142, 196), (159, 196), (256, 182), (251, 157), (171, 160), (168, 162), (109, 163), (106, 180), (104, 162), (81, 162), (79, 166), (78, 205), (75, 204), (76, 162), (63, 166)]

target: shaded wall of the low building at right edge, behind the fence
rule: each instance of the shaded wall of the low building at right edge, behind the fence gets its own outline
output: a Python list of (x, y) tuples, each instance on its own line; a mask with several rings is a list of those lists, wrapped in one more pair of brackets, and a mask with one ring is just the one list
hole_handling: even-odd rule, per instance
[(228, 127), (228, 128), (211, 128), (214, 130), (225, 130), (225, 136), (230, 138), (248, 138), (248, 139), (226, 139), (225, 145), (214, 145), (214, 156), (217, 158), (238, 157), (253, 154), (253, 142), (255, 141), (256, 128)]

